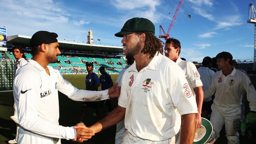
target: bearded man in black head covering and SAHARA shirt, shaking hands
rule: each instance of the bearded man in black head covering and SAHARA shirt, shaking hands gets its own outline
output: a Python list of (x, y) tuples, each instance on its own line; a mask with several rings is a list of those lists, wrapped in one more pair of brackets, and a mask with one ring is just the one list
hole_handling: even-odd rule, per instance
[[(56, 33), (38, 31), (31, 38), (32, 59), (22, 66), (14, 80), (13, 93), (18, 109), (18, 144), (60, 144), (67, 140), (93, 136), (89, 129), (59, 125), (58, 90), (76, 101), (98, 101), (118, 96), (117, 84), (104, 91), (79, 90), (66, 81), (49, 63), (60, 54)], [(86, 127), (85, 127), (86, 128)]]

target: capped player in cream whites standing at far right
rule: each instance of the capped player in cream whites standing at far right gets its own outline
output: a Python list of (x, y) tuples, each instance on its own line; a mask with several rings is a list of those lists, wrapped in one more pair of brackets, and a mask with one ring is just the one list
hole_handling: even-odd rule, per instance
[(208, 98), (215, 93), (213, 104), (211, 105), (211, 124), (214, 133), (211, 138), (219, 138), (219, 133), (225, 124), (226, 138), (228, 144), (239, 144), (239, 134), (233, 127), (235, 119), (241, 116), (241, 100), (243, 92), (247, 92), (250, 113), (246, 117), (246, 122), (256, 121), (256, 91), (250, 79), (241, 71), (232, 66), (232, 55), (229, 52), (217, 54), (217, 65), (220, 69), (213, 75), (211, 85), (204, 92), (204, 97)]

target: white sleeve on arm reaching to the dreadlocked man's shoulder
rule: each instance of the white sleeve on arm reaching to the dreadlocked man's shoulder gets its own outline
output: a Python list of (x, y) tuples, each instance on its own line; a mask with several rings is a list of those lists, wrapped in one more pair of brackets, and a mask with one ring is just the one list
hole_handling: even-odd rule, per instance
[(100, 100), (107, 100), (109, 98), (108, 90), (93, 91), (77, 89), (69, 81), (64, 79), (62, 74), (58, 70), (56, 72), (58, 74), (58, 90), (63, 94), (67, 95), (72, 100), (94, 102)]

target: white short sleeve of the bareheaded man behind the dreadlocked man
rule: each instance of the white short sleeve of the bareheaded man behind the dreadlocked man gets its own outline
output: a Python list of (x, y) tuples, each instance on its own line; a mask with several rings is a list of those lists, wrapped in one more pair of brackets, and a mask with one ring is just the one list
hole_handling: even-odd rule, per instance
[(192, 89), (195, 87), (200, 87), (202, 86), (202, 81), (200, 79), (200, 74), (197, 71), (197, 67), (191, 63), (191, 62), (187, 62), (187, 77), (192, 85)]

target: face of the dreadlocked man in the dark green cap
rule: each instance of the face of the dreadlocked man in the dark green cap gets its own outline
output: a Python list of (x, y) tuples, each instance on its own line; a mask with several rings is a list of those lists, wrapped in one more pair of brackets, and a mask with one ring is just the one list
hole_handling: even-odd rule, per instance
[(140, 49), (139, 44), (139, 35), (137, 33), (131, 33), (129, 35), (124, 35), (124, 38), (122, 39), (122, 46), (124, 48), (124, 55), (126, 56), (134, 56), (138, 54)]

